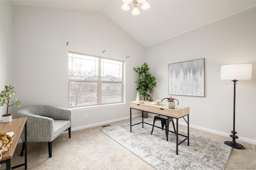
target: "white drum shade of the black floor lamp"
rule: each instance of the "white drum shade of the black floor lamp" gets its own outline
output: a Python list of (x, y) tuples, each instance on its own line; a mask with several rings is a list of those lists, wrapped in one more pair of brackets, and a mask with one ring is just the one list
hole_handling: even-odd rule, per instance
[(250, 80), (252, 79), (252, 64), (229, 64), (220, 67), (222, 80)]

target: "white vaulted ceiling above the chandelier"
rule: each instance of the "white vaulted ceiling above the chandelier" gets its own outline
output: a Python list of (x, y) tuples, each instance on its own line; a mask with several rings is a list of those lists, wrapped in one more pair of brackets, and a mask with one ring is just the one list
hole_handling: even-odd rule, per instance
[(140, 15), (121, 10), (122, 0), (13, 0), (14, 5), (102, 12), (144, 47), (256, 6), (256, 0), (148, 0)]

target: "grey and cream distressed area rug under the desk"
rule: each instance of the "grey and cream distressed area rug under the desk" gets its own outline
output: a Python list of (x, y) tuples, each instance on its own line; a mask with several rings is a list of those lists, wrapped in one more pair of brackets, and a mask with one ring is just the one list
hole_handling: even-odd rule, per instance
[[(124, 123), (101, 131), (157, 170), (223, 170), (228, 162), (232, 148), (222, 142), (190, 133), (190, 146), (186, 140), (178, 146), (176, 155), (176, 135), (169, 132), (166, 141), (164, 130), (154, 128), (153, 134), (151, 130), (151, 125), (142, 128), (139, 124), (130, 132), (130, 123)], [(179, 141), (182, 139), (179, 135)]]

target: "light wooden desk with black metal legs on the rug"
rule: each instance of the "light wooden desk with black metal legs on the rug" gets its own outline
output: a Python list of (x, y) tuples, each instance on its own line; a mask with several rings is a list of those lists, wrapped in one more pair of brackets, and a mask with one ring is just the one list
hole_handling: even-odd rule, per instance
[[(130, 131), (132, 132), (132, 126), (134, 125), (138, 125), (140, 123), (142, 123), (142, 128), (144, 127), (144, 119), (143, 119), (143, 116), (142, 116), (142, 122), (140, 123), (136, 123), (134, 125), (132, 125), (132, 109), (136, 109), (136, 110), (139, 110), (139, 111), (142, 111), (142, 115), (143, 115), (143, 112), (144, 111), (147, 111), (149, 113), (154, 113), (154, 114), (157, 114), (157, 115), (163, 115), (163, 116), (168, 116), (168, 117), (172, 117), (172, 118), (175, 118), (176, 119), (176, 132), (173, 132), (171, 130), (169, 130), (169, 132), (173, 132), (176, 134), (176, 154), (178, 154), (178, 145), (180, 145), (181, 143), (183, 143), (185, 140), (188, 140), (188, 146), (189, 146), (189, 113), (190, 113), (190, 107), (186, 107), (186, 106), (175, 106), (175, 109), (168, 109), (166, 106), (163, 106), (163, 105), (152, 105), (150, 104), (152, 102), (149, 102), (149, 101), (144, 101), (144, 103), (137, 103), (137, 102), (130, 102)], [(188, 121), (186, 121), (186, 123), (188, 124), (188, 135), (184, 135), (184, 134), (180, 134), (178, 133), (178, 119), (180, 118), (184, 118), (185, 116), (188, 117)], [(146, 123), (148, 125), (152, 125), (152, 124), (149, 124), (149, 123)], [(153, 126), (153, 125), (152, 125)], [(154, 126), (154, 127), (157, 127), (157, 126)], [(161, 127), (158, 127), (158, 128), (161, 128)], [(178, 136), (181, 135), (181, 136), (184, 136), (185, 138), (178, 142)]]

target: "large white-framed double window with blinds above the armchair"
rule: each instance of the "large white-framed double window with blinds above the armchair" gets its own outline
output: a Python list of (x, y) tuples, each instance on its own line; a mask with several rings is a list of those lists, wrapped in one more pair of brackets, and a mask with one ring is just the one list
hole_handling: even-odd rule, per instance
[(68, 53), (69, 107), (123, 102), (123, 61)]

